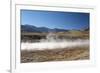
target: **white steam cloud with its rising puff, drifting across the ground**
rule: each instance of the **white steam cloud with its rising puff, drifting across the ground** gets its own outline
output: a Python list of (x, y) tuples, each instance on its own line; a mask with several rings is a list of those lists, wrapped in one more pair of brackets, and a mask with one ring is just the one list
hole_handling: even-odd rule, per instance
[(22, 42), (22, 50), (44, 50), (44, 49), (62, 49), (68, 47), (88, 46), (89, 40), (67, 40), (58, 39), (56, 35), (50, 33), (46, 39), (41, 39), (40, 42)]

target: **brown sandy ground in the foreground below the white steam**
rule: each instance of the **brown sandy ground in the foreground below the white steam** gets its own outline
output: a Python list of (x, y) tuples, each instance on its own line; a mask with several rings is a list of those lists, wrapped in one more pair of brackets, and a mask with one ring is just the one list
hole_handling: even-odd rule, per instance
[(89, 59), (89, 46), (51, 50), (21, 50), (21, 63), (87, 59)]

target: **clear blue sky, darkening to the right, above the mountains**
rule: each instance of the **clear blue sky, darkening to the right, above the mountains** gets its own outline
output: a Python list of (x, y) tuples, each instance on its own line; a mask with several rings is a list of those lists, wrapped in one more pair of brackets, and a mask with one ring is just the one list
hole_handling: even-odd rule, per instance
[(21, 24), (79, 30), (89, 27), (89, 13), (21, 10)]

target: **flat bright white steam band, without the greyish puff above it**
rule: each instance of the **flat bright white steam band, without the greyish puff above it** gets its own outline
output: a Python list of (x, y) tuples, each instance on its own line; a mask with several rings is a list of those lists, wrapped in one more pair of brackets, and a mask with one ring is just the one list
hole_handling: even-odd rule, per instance
[(22, 42), (22, 50), (44, 50), (44, 49), (62, 49), (67, 47), (88, 46), (88, 40), (75, 40), (75, 41), (61, 41), (61, 42), (37, 42), (29, 43)]

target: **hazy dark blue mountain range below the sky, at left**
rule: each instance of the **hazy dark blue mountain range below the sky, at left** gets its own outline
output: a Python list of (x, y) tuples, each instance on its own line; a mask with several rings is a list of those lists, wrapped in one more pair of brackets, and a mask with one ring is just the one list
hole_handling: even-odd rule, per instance
[(64, 32), (68, 30), (59, 29), (59, 28), (50, 29), (47, 27), (36, 27), (33, 25), (21, 25), (21, 31), (22, 32)]

